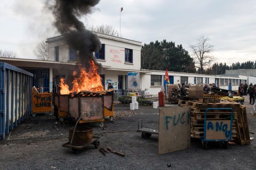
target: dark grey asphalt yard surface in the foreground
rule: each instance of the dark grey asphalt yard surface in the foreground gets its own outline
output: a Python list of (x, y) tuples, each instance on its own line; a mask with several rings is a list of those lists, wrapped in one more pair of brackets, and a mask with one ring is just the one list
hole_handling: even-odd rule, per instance
[(192, 139), (189, 149), (163, 155), (157, 155), (157, 135), (142, 139), (136, 132), (140, 119), (146, 127), (158, 128), (159, 110), (139, 106), (139, 110), (130, 111), (128, 105), (115, 105), (114, 122), (106, 121), (104, 127), (93, 124), (93, 132), (101, 137), (101, 146), (125, 153), (125, 157), (113, 153), (103, 156), (93, 145), (74, 153), (62, 147), (68, 141), (70, 124), (60, 124), (47, 114), (30, 116), (0, 141), (0, 170), (255, 170), (256, 116), (250, 115), (248, 96), (244, 105), (249, 129), (254, 132), (251, 144), (225, 150), (220, 143), (212, 143), (204, 150), (200, 140)]

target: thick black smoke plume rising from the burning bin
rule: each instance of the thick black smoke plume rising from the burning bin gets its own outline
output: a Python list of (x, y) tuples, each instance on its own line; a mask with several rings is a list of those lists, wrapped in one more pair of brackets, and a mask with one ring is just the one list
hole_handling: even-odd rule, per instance
[[(50, 9), (55, 17), (53, 25), (64, 35), (69, 47), (78, 51), (77, 62), (87, 70), (90, 60), (93, 60), (99, 66), (100, 72), (102, 67), (95, 61), (93, 52), (101, 48), (101, 42), (95, 34), (86, 30), (84, 23), (79, 20), (79, 17), (92, 13), (93, 7), (98, 3), (99, 0), (55, 0)], [(71, 82), (71, 75), (70, 71), (66, 73), (68, 84)]]

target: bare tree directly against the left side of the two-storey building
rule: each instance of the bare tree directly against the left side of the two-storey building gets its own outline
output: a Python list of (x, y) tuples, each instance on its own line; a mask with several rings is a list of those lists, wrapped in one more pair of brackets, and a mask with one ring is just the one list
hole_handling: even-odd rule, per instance
[(38, 59), (41, 60), (48, 60), (49, 55), (48, 55), (48, 43), (45, 41), (41, 41), (36, 45), (34, 54)]

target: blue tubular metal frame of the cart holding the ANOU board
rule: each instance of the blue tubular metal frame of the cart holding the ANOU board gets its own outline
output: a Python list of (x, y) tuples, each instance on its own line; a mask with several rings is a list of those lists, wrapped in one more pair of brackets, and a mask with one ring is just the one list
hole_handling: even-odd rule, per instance
[[(226, 139), (207, 139), (207, 111), (210, 110), (230, 110), (230, 133), (229, 136)], [(204, 113), (204, 138), (202, 138), (202, 144), (204, 146), (204, 149), (207, 150), (207, 144), (208, 142), (223, 142), (223, 146), (225, 149), (227, 149), (228, 141), (232, 140), (232, 122), (233, 122), (233, 109), (232, 108), (207, 108)], [(217, 130), (216, 130), (217, 131)]]

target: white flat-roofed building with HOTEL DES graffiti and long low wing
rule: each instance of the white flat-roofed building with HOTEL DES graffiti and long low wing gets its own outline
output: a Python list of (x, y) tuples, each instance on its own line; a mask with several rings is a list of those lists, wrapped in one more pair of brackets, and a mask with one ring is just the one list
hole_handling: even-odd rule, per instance
[[(97, 34), (102, 42), (102, 49), (96, 52), (97, 62), (103, 67), (102, 83), (107, 88), (108, 82), (119, 91), (119, 95), (127, 94), (128, 72), (138, 72), (140, 75), (140, 90), (148, 89), (151, 94), (157, 94), (161, 85), (165, 71), (143, 70), (140, 68), (141, 42), (128, 40), (120, 37), (113, 37), (106, 34)], [(59, 83), (59, 77), (63, 69), (73, 71), (76, 64), (76, 52), (69, 48), (63, 36), (47, 39), (49, 45), (49, 61), (36, 59), (10, 59), (0, 58), (0, 62), (7, 62), (11, 65), (21, 67), (34, 73), (34, 84), (44, 91), (52, 91)], [(215, 83), (219, 88), (238, 90), (239, 84), (248, 82), (247, 76), (243, 75), (205, 75), (190, 74), (169, 71), (171, 84), (177, 83)]]

